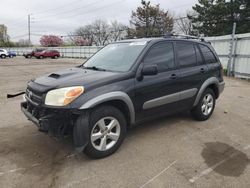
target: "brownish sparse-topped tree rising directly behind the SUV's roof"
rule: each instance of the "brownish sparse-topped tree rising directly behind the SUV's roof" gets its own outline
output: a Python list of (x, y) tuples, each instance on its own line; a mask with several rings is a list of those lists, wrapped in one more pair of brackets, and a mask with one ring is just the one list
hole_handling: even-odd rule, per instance
[(136, 11), (132, 11), (130, 23), (134, 31), (130, 29), (129, 38), (161, 36), (173, 30), (173, 18), (169, 12), (144, 0)]

